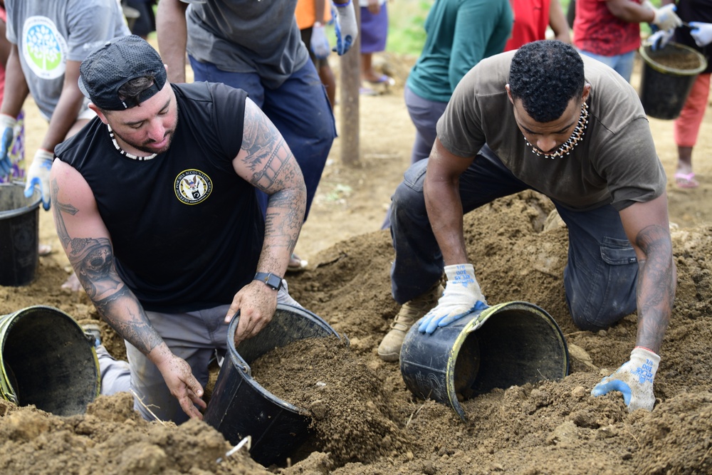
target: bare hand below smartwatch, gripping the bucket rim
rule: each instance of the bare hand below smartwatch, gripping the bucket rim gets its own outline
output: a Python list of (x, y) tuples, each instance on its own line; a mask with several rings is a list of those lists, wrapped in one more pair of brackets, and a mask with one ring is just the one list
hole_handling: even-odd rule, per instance
[(277, 291), (264, 282), (252, 281), (241, 288), (225, 317), (225, 323), (234, 317), (240, 319), (235, 330), (235, 345), (260, 333), (272, 320), (276, 308)]

